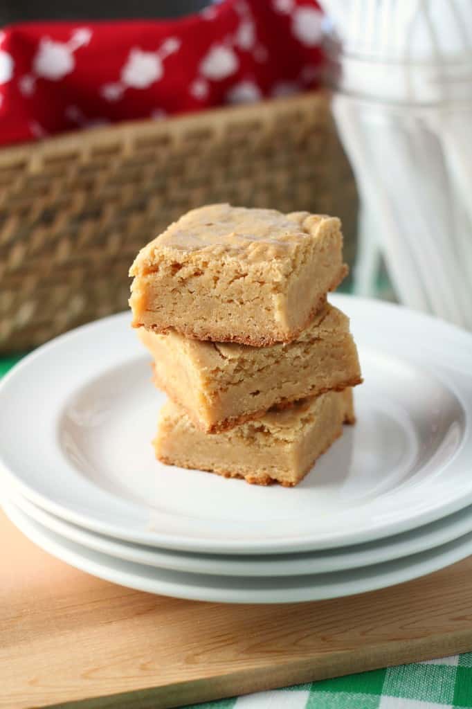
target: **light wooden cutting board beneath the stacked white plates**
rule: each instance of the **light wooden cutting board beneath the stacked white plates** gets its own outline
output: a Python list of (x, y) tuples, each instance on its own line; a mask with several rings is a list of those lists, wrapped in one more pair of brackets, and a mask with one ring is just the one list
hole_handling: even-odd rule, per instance
[(472, 649), (472, 557), (350, 598), (223, 605), (95, 579), (3, 513), (0, 540), (1, 708), (159, 709)]

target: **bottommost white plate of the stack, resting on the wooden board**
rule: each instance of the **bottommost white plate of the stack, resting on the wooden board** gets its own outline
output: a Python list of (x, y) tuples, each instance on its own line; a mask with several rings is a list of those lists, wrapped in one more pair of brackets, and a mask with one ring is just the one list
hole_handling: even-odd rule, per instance
[(472, 552), (472, 532), (458, 540), (405, 559), (367, 566), (365, 569), (337, 571), (309, 576), (244, 578), (182, 574), (179, 571), (143, 566), (94, 552), (64, 540), (43, 525), (6, 503), (11, 521), (39, 547), (58, 559), (101, 579), (175, 598), (220, 603), (296, 603), (351, 596), (417, 579), (467, 557)]

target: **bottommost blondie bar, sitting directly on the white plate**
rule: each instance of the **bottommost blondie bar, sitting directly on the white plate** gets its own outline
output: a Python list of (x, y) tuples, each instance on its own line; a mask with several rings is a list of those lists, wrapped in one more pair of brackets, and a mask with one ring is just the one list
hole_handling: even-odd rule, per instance
[(167, 464), (245, 478), (255, 485), (293, 486), (342, 434), (343, 423), (354, 423), (352, 389), (301, 399), (213, 435), (196, 428), (183, 408), (167, 401), (154, 449)]

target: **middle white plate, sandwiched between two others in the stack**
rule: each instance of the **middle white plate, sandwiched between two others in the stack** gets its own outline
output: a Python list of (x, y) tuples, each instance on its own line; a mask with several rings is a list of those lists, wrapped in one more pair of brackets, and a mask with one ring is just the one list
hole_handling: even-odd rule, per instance
[(11, 496), (9, 500), (46, 529), (96, 552), (145, 566), (159, 566), (161, 569), (217, 576), (302, 576), (357, 569), (360, 566), (381, 564), (391, 559), (400, 559), (433, 549), (472, 531), (472, 510), (466, 507), (442, 520), (379, 542), (366, 542), (363, 545), (351, 545), (344, 549), (325, 549), (325, 551), (301, 554), (221, 556), (173, 552), (169, 549), (113, 540), (111, 537), (62, 520), (33, 505), (22, 496)]

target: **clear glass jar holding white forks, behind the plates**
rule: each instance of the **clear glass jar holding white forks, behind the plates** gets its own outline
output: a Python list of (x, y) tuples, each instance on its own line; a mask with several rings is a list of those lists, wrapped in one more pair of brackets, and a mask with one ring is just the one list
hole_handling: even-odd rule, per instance
[(402, 303), (472, 330), (472, 40), (428, 46), (327, 45), (361, 194), (354, 291), (378, 294), (383, 257)]

